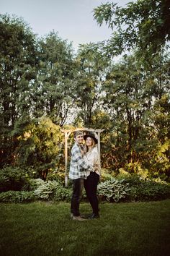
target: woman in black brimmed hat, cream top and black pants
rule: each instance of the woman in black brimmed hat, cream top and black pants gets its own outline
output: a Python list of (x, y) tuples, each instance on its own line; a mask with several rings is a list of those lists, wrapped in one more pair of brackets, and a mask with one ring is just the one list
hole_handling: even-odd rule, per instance
[(84, 179), (84, 187), (86, 196), (89, 199), (93, 213), (89, 218), (99, 218), (99, 201), (97, 198), (97, 184), (99, 182), (99, 153), (97, 151), (97, 138), (89, 133), (84, 135), (86, 154), (84, 158), (88, 163), (94, 166), (95, 171), (86, 171), (86, 179)]

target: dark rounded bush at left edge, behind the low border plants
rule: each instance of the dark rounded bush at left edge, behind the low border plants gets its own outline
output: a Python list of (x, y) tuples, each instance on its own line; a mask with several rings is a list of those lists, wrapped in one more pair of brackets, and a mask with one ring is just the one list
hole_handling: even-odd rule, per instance
[(29, 184), (30, 174), (19, 167), (7, 166), (0, 169), (0, 192), (20, 191)]

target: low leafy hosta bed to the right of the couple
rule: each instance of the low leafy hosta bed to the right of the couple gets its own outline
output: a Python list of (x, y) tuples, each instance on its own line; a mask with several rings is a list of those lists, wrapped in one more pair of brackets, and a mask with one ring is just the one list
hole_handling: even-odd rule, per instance
[(101, 182), (98, 193), (102, 200), (109, 202), (164, 200), (170, 197), (170, 185), (160, 179), (143, 179), (137, 174), (124, 173)]

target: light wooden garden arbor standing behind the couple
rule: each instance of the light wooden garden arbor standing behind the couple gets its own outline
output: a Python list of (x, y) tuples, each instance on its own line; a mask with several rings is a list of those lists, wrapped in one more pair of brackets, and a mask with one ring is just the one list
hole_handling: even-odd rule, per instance
[(68, 137), (71, 135), (71, 132), (82, 131), (82, 132), (94, 132), (97, 135), (98, 143), (97, 148), (99, 152), (99, 168), (100, 168), (100, 132), (103, 132), (104, 129), (89, 129), (89, 128), (75, 128), (75, 129), (61, 129), (61, 132), (65, 134), (65, 187), (68, 186)]

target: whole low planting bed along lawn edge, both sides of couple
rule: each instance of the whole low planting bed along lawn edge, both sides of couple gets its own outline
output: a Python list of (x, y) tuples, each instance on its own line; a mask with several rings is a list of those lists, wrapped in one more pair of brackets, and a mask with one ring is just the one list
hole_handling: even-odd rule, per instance
[[(54, 179), (55, 178), (55, 179)], [(52, 200), (70, 202), (72, 185), (64, 187), (58, 176), (47, 180), (32, 179), (19, 168), (0, 169), (0, 202), (30, 202)], [(170, 184), (161, 179), (151, 179), (139, 174), (103, 175), (97, 193), (99, 200), (109, 202), (151, 201), (170, 198)], [(85, 191), (83, 200), (86, 201)]]

